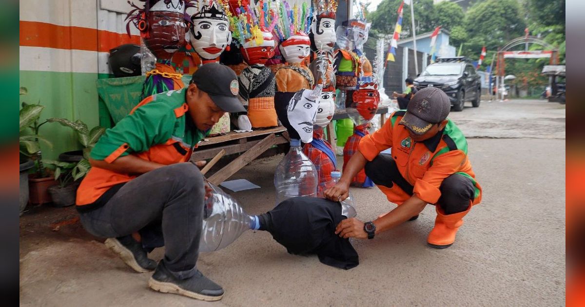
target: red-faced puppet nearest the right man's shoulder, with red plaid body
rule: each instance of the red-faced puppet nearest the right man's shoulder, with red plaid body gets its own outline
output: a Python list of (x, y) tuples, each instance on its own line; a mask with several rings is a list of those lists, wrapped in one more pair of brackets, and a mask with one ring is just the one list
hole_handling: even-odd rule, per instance
[[(376, 58), (375, 62), (376, 69), (382, 69), (383, 62), (378, 58)], [(352, 136), (347, 139), (345, 147), (343, 147), (344, 168), (349, 159), (356, 153), (357, 146), (362, 137), (369, 134), (367, 129), (370, 126), (370, 121), (376, 115), (376, 111), (378, 111), (380, 93), (378, 92), (378, 78), (376, 75), (370, 76), (369, 80), (366, 77), (360, 78), (364, 81), (360, 81), (359, 89), (352, 94), (352, 104), (346, 108), (347, 115), (349, 115), (355, 127)], [(352, 185), (360, 188), (369, 188), (373, 187), (374, 183), (366, 176), (366, 172), (362, 168), (356, 177), (353, 178)]]

